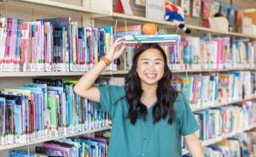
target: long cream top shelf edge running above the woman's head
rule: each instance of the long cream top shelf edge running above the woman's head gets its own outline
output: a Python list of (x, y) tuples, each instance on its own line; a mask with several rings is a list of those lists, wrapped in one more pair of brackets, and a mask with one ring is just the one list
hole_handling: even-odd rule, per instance
[[(127, 21), (133, 21), (133, 23), (137, 23), (138, 21), (140, 22), (151, 22), (151, 23), (156, 23), (162, 26), (172, 28), (177, 27), (177, 24), (174, 24), (169, 21), (165, 20), (151, 20), (146, 17), (142, 16), (136, 16), (136, 15), (131, 15), (131, 14), (119, 14), (119, 13), (113, 13), (113, 10), (97, 10), (94, 8), (88, 8), (80, 5), (74, 5), (71, 3), (61, 3), (61, 2), (55, 2), (55, 1), (50, 1), (50, 0), (3, 0), (1, 3), (6, 3), (6, 4), (18, 4), (18, 5), (23, 5), (23, 6), (30, 6), (30, 7), (35, 7), (35, 8), (61, 8), (62, 10), (70, 10), (70, 11), (75, 11), (79, 13), (87, 13), (87, 14), (95, 14), (95, 18), (104, 18), (104, 19), (113, 19), (113, 20), (127, 20)], [(189, 28), (195, 31), (203, 31), (203, 32), (209, 32), (213, 34), (218, 34), (218, 35), (227, 35), (227, 36), (240, 36), (240, 37), (247, 37), (247, 38), (254, 38), (256, 39), (256, 36), (251, 36), (251, 35), (245, 35), (241, 34), (238, 32), (230, 32), (230, 31), (218, 31), (218, 30), (213, 30), (211, 28), (206, 28), (203, 26), (198, 26), (198, 25), (187, 25)]]

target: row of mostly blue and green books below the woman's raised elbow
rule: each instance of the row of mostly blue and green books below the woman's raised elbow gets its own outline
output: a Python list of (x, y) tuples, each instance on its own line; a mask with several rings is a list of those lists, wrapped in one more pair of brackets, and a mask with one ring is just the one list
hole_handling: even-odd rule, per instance
[(76, 81), (34, 79), (0, 93), (0, 144), (30, 143), (109, 126), (109, 115), (73, 91)]

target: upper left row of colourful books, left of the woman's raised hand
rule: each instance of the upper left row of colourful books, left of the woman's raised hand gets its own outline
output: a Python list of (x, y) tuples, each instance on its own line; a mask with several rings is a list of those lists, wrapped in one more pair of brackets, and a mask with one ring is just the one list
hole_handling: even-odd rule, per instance
[[(88, 70), (113, 42), (112, 27), (79, 27), (69, 17), (0, 22), (0, 71)], [(108, 70), (116, 70), (116, 65)]]

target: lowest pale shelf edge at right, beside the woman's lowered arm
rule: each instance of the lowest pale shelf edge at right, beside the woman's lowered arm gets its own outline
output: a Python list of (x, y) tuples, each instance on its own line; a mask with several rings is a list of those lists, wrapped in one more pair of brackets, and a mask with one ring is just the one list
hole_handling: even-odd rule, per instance
[[(243, 128), (243, 129), (237, 130), (235, 132), (224, 133), (221, 136), (218, 136), (216, 138), (202, 141), (201, 144), (202, 144), (203, 147), (207, 147), (209, 145), (212, 145), (214, 143), (218, 143), (218, 142), (220, 142), (220, 141), (222, 141), (224, 139), (227, 139), (229, 137), (234, 137), (237, 133), (250, 131), (250, 130), (252, 130), (255, 127), (256, 127), (256, 123), (251, 125), (251, 126), (247, 126), (247, 127)], [(188, 153), (189, 153), (188, 149), (183, 149), (182, 154), (188, 154)]]

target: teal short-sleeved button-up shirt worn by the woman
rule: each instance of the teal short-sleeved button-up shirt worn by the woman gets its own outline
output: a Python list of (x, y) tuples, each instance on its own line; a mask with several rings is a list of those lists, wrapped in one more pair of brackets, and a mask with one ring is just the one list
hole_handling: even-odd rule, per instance
[(100, 105), (112, 118), (108, 157), (181, 157), (181, 137), (199, 129), (195, 116), (182, 94), (178, 94), (174, 109), (176, 120), (168, 119), (153, 124), (153, 106), (148, 109), (146, 121), (137, 119), (133, 126), (127, 119), (128, 104), (125, 87), (99, 87)]

